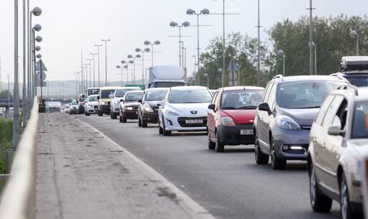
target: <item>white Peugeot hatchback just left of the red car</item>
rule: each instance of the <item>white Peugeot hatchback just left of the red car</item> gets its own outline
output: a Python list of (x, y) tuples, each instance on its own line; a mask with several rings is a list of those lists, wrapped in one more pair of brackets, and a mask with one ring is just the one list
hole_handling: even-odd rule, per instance
[(206, 131), (211, 100), (212, 94), (204, 86), (170, 88), (158, 103), (159, 133), (170, 136), (172, 131)]

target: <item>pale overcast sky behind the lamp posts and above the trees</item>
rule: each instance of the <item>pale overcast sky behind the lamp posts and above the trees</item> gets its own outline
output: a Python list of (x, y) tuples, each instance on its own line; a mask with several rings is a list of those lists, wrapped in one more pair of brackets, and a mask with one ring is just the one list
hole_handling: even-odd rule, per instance
[[(187, 9), (200, 11), (207, 8), (212, 13), (222, 12), (223, 1), (214, 0), (30, 0), (31, 9), (39, 6), (43, 10), (41, 16), (34, 18), (34, 24), (42, 25), (40, 35), (44, 41), (41, 46), (43, 61), (48, 68), (48, 80), (67, 80), (75, 78), (80, 71), (81, 49), (86, 58), (96, 52), (94, 44), (102, 44), (101, 39), (111, 39), (108, 43), (108, 80), (118, 81), (121, 76), (116, 65), (127, 60), (128, 54), (136, 54), (136, 47), (144, 48), (143, 41), (160, 40), (161, 45), (155, 47), (155, 65), (178, 65), (178, 39), (170, 35), (178, 35), (177, 28), (170, 28), (170, 21), (181, 24), (189, 21), (196, 24), (195, 16), (185, 14)], [(19, 0), (19, 15), (22, 1)], [(265, 30), (277, 21), (308, 15), (307, 0), (261, 0), (262, 39), (267, 39)], [(368, 11), (367, 0), (319, 0), (314, 1), (317, 8), (313, 13), (317, 16), (363, 16)], [(237, 32), (249, 36), (257, 36), (257, 0), (227, 0), (226, 11), (240, 13), (226, 18), (226, 31)], [(205, 49), (210, 39), (222, 34), (222, 18), (218, 15), (201, 16), (200, 24), (212, 26), (200, 29), (200, 48)], [(22, 23), (19, 21), (19, 26)], [(13, 79), (14, 63), (14, 1), (0, 1), (0, 57), (1, 76), (5, 81), (6, 74)], [(21, 32), (20, 32), (21, 33)], [(196, 29), (183, 29), (185, 47), (188, 48), (188, 73), (193, 72), (193, 55), (196, 54)], [(19, 56), (22, 63), (21, 35), (19, 35)], [(101, 48), (101, 74), (105, 71), (105, 49)], [(150, 58), (146, 55), (145, 58)], [(141, 62), (137, 62), (140, 64)], [(97, 66), (97, 63), (96, 63)], [(145, 67), (150, 61), (145, 62)], [(20, 66), (21, 67), (21, 66)], [(22, 68), (22, 67), (21, 67)], [(137, 67), (137, 78), (141, 78), (141, 66)], [(96, 70), (97, 72), (97, 70)], [(21, 73), (21, 71), (20, 71)], [(20, 78), (21, 79), (21, 78)]]

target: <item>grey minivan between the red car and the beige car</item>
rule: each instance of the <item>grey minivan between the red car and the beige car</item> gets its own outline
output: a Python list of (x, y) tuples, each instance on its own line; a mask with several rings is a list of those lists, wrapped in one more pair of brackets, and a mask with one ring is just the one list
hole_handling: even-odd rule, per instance
[(329, 91), (347, 82), (332, 76), (275, 76), (255, 116), (255, 161), (285, 169), (307, 160), (310, 127)]

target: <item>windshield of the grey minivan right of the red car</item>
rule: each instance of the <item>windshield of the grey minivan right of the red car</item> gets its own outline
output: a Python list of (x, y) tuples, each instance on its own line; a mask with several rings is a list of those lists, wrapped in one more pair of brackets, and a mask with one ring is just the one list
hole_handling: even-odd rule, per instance
[(327, 94), (343, 83), (338, 81), (298, 81), (277, 88), (277, 104), (282, 108), (320, 108)]

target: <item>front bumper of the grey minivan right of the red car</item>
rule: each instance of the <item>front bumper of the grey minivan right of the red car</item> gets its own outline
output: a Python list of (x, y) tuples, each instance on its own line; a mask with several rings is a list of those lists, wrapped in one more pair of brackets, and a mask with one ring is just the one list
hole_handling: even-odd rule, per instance
[(276, 126), (272, 132), (272, 138), (277, 158), (306, 160), (309, 137), (310, 130), (285, 130)]

